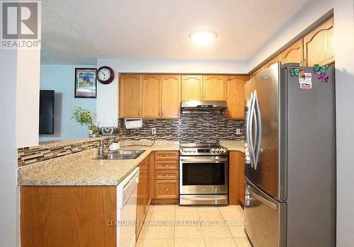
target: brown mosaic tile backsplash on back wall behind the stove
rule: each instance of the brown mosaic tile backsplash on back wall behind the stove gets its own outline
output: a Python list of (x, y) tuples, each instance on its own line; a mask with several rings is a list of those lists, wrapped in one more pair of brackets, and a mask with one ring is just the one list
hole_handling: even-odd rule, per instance
[[(152, 135), (152, 128), (156, 135)], [(236, 129), (241, 134), (236, 134)], [(180, 142), (217, 142), (218, 140), (244, 139), (244, 121), (220, 115), (182, 114), (178, 119), (143, 120), (142, 128), (126, 130), (124, 121), (118, 120), (120, 137), (125, 140), (155, 139)]]

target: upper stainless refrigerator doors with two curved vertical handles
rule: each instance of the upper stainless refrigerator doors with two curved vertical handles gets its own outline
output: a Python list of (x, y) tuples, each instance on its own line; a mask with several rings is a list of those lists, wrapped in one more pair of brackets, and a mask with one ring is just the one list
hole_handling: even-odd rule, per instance
[[(245, 86), (246, 163), (245, 176), (273, 197), (285, 200), (280, 174), (280, 64), (261, 71)], [(285, 105), (282, 103), (282, 105)]]

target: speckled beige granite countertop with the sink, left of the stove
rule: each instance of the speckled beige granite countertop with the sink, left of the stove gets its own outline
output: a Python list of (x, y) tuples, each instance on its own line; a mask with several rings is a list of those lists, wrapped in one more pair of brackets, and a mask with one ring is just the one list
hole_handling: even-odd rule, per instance
[(152, 151), (178, 151), (179, 142), (156, 141), (152, 147), (133, 146), (125, 149), (144, 149), (137, 159), (93, 159), (97, 151), (90, 149), (59, 159), (42, 161), (18, 168), (18, 185), (118, 185)]

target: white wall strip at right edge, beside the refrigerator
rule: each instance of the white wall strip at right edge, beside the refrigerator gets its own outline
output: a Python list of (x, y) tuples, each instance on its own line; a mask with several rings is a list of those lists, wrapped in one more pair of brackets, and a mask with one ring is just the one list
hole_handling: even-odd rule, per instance
[(337, 108), (337, 246), (354, 244), (354, 2), (334, 3)]

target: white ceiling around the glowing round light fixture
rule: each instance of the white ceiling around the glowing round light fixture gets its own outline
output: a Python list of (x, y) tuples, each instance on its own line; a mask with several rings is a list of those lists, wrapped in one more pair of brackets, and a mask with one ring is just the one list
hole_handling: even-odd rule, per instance
[[(42, 63), (247, 60), (308, 0), (43, 0)], [(208, 47), (188, 39), (214, 30)]]

